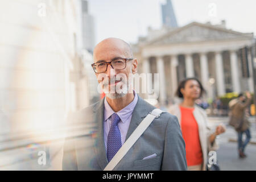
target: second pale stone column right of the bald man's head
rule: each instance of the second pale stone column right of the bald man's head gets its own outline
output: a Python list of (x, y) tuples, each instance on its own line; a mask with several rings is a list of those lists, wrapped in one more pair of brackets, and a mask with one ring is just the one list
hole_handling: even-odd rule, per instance
[(156, 67), (159, 73), (159, 101), (164, 105), (166, 101), (166, 78), (164, 77), (164, 61), (162, 57), (156, 60)]

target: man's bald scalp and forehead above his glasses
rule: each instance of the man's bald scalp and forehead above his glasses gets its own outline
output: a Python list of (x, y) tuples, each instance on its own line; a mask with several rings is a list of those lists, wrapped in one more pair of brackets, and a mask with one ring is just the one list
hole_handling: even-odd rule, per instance
[(122, 39), (107, 38), (96, 45), (93, 51), (94, 62), (101, 60), (101, 57), (108, 57), (108, 60), (121, 56), (123, 58), (133, 58), (131, 46)]

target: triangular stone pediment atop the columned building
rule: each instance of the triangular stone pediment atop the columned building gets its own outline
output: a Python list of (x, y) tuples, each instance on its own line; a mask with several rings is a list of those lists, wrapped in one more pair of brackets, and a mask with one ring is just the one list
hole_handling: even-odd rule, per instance
[(147, 45), (248, 38), (253, 39), (253, 34), (245, 34), (210, 24), (193, 22), (155, 38), (148, 42)]

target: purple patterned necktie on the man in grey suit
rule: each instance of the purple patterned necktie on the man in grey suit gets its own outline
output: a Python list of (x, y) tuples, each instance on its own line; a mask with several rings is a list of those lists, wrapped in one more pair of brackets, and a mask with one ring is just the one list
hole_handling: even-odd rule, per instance
[(118, 122), (120, 121), (117, 113), (114, 113), (110, 117), (111, 126), (108, 134), (108, 143), (107, 143), (107, 158), (108, 161), (113, 158), (113, 156), (117, 153), (119, 148), (122, 147), (121, 142), (121, 133), (118, 128)]

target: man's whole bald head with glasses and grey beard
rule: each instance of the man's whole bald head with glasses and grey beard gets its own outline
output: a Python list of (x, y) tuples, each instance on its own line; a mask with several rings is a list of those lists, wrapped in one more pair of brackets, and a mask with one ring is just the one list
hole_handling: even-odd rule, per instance
[[(94, 48), (93, 59), (96, 63), (93, 64), (94, 71), (99, 70), (95, 71), (97, 80), (107, 98), (121, 98), (126, 96), (127, 90), (133, 96), (131, 75), (137, 73), (138, 61), (133, 57), (128, 43), (117, 38), (104, 39)], [(114, 80), (114, 84), (111, 84), (111, 80)], [(114, 93), (109, 93), (111, 90), (114, 90)]]

